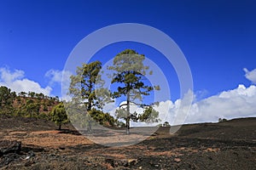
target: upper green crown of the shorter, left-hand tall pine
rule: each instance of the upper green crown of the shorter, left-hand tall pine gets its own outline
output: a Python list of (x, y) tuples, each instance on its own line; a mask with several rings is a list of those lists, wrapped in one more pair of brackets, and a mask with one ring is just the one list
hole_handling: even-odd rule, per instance
[(109, 100), (108, 89), (102, 88), (104, 82), (100, 74), (101, 69), (100, 61), (83, 64), (77, 68), (77, 75), (70, 77), (69, 94), (72, 94), (76, 104), (84, 104), (87, 111), (92, 108), (102, 109)]

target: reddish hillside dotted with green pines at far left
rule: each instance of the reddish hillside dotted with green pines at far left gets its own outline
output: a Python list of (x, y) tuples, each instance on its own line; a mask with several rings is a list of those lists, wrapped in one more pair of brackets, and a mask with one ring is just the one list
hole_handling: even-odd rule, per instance
[(20, 92), (0, 87), (0, 114), (50, 119), (49, 112), (60, 103), (57, 97), (49, 97), (35, 92)]

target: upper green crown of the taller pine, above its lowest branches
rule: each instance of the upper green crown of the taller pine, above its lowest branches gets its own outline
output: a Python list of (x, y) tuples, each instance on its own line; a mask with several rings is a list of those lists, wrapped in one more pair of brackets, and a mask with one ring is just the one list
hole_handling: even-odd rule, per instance
[(145, 85), (143, 76), (148, 71), (148, 66), (143, 65), (144, 55), (139, 55), (131, 49), (117, 54), (113, 59), (113, 66), (108, 66), (113, 73), (112, 83), (119, 83), (118, 90), (113, 92), (115, 98), (130, 93), (133, 99), (142, 99), (143, 95), (149, 95), (154, 88)]

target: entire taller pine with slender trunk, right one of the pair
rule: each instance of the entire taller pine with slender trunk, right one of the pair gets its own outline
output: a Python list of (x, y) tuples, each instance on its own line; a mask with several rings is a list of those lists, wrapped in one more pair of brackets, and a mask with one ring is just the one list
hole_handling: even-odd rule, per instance
[[(126, 108), (116, 111), (118, 118), (125, 119), (127, 133), (130, 133), (130, 121), (140, 122), (158, 122), (158, 112), (155, 111), (149, 105), (142, 102), (143, 96), (148, 96), (151, 91), (159, 90), (160, 87), (152, 87), (145, 83), (144, 77), (148, 73), (152, 74), (152, 71), (148, 71), (149, 67), (143, 64), (145, 56), (143, 54), (137, 54), (135, 50), (125, 49), (123, 52), (117, 54), (113, 59), (113, 65), (108, 66), (108, 70), (114, 71), (112, 83), (117, 83), (118, 88), (113, 92), (114, 98), (121, 96), (126, 97)], [(139, 105), (146, 107), (142, 115), (137, 112), (130, 112), (130, 105)], [(152, 104), (151, 104), (152, 105)]]

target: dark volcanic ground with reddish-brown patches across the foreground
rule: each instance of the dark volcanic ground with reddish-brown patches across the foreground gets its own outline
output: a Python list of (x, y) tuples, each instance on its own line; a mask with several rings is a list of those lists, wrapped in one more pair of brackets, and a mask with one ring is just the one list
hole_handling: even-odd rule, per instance
[(35, 118), (0, 121), (0, 140), (21, 142), (20, 153), (0, 156), (0, 169), (256, 169), (256, 118), (183, 125), (175, 134), (160, 127), (125, 147), (95, 144), (70, 124), (58, 131)]

